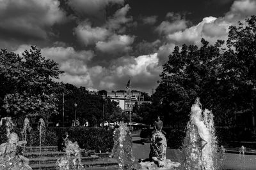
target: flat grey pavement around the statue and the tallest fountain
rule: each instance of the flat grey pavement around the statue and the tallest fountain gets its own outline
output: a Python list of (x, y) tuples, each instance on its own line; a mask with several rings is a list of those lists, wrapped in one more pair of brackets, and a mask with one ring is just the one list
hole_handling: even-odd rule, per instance
[[(139, 134), (132, 134), (132, 153), (136, 160), (147, 159), (150, 152), (150, 145), (143, 145), (140, 142)], [(180, 151), (172, 148), (167, 148), (166, 159), (173, 162), (180, 162)], [(256, 170), (256, 155), (239, 155), (236, 153), (225, 153), (223, 169), (242, 169)]]

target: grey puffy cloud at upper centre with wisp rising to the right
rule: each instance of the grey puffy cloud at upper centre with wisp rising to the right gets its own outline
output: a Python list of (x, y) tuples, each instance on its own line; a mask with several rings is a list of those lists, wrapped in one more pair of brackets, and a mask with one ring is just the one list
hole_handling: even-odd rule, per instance
[[(129, 50), (129, 46), (134, 38), (128, 38), (128, 36), (118, 35), (125, 31), (127, 25), (132, 22), (132, 17), (126, 17), (127, 12), (130, 10), (130, 6), (127, 4), (115, 12), (113, 17), (109, 17), (106, 24), (100, 27), (92, 27), (92, 24), (88, 20), (79, 23), (74, 29), (74, 34), (83, 45), (95, 45), (104, 52), (110, 50), (119, 49), (118, 46), (124, 47), (124, 51)], [(127, 42), (128, 41), (128, 42)], [(115, 46), (115, 47), (114, 47)], [(120, 50), (119, 50), (120, 51)]]

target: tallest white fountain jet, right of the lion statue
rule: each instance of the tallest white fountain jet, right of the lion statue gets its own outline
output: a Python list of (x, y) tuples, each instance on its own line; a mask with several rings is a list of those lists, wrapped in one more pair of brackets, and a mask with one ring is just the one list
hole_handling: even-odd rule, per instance
[(199, 98), (196, 98), (191, 107), (186, 129), (183, 143), (184, 160), (180, 169), (219, 169), (222, 155), (218, 152), (213, 115), (209, 110), (202, 114)]

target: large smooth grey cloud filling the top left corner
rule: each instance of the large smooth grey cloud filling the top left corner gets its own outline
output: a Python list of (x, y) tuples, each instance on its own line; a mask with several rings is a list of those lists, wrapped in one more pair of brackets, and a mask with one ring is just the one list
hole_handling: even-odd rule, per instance
[(46, 39), (51, 26), (65, 19), (59, 6), (57, 0), (1, 0), (0, 31), (24, 42)]

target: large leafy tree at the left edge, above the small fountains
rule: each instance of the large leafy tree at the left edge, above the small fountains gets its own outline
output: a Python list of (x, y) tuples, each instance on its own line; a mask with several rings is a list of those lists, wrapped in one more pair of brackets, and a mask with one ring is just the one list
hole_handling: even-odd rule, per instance
[(0, 97), (5, 113), (17, 117), (58, 113), (55, 92), (59, 84), (52, 79), (58, 79), (63, 72), (56, 62), (42, 57), (35, 46), (22, 55), (0, 52)]

